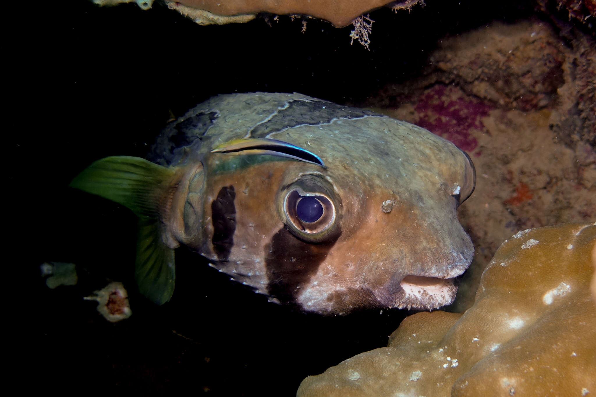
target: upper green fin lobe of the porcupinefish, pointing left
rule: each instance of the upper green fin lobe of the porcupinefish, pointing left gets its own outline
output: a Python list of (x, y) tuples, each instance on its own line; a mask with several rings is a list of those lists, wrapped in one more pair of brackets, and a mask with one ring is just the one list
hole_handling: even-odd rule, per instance
[(122, 204), (139, 217), (157, 218), (160, 195), (173, 174), (140, 157), (113, 156), (89, 165), (69, 186)]

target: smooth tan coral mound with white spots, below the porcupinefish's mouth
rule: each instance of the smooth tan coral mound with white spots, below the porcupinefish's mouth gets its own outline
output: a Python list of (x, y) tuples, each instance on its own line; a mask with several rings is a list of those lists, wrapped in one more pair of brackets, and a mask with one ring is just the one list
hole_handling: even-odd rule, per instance
[(505, 241), (464, 314), (406, 318), (387, 348), (303, 380), (299, 396), (596, 395), (596, 224)]

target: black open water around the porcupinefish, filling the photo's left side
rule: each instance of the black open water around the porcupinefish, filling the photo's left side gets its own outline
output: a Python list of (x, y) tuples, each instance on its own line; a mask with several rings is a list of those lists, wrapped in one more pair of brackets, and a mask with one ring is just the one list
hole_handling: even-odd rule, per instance
[[(66, 186), (98, 158), (144, 157), (170, 111), (178, 117), (218, 93), (301, 92), (359, 102), (415, 77), (440, 37), (535, 14), (533, 4), (518, 1), (428, 3), (410, 13), (371, 13), (371, 51), (349, 45), (350, 27), (313, 19), (302, 34), (300, 18), (198, 26), (159, 5), (5, 8), (5, 194), (15, 204), (5, 213), (8, 251), (26, 271), (14, 284), (27, 298), (10, 327), (24, 387), (293, 395), (305, 376), (386, 345), (406, 312), (302, 314), (229, 282), (184, 249), (176, 253), (176, 293), (155, 307), (132, 282), (134, 215)], [(75, 262), (79, 285), (47, 289), (39, 277), (44, 261)], [(128, 288), (129, 320), (107, 323), (82, 300), (105, 277)]]

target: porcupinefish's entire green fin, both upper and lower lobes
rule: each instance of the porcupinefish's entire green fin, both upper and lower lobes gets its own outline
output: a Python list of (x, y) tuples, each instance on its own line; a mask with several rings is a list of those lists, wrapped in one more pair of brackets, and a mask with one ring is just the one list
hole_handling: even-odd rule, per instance
[(139, 219), (135, 279), (139, 291), (158, 305), (174, 291), (174, 250), (162, 239), (162, 196), (175, 171), (139, 157), (106, 157), (95, 161), (70, 186), (102, 196), (132, 210)]

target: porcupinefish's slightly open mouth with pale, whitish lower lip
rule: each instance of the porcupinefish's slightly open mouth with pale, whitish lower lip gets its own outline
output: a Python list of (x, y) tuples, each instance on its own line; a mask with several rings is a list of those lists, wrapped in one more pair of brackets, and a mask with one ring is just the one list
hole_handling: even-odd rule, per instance
[[(451, 276), (451, 275), (450, 275)], [(399, 282), (402, 298), (395, 307), (400, 309), (432, 310), (451, 304), (457, 293), (454, 277), (405, 276)]]

